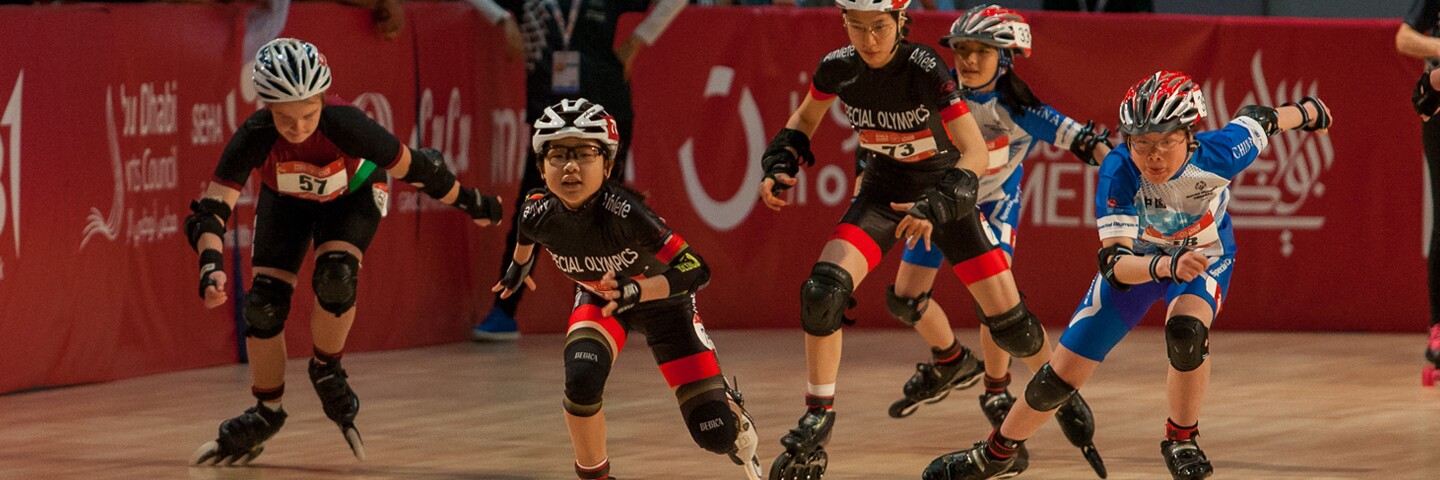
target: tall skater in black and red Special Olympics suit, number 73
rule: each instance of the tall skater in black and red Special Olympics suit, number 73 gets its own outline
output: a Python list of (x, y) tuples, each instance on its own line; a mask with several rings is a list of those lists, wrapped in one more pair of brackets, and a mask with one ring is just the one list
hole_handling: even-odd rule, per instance
[[(929, 46), (904, 42), (904, 9), (910, 1), (835, 3), (851, 45), (819, 62), (809, 94), (762, 159), (766, 176), (759, 195), (766, 206), (779, 210), (788, 202), (778, 193), (795, 185), (801, 161), (814, 161), (809, 138), (840, 98), (860, 134), (857, 160), (864, 163), (854, 202), (801, 285), (806, 412), (799, 427), (780, 440), (785, 453), (772, 464), (772, 479), (824, 474), (824, 445), (835, 421), (844, 311), (854, 288), (899, 238), (937, 248), (956, 265), (955, 274), (975, 295), (985, 313), (982, 321), (1002, 347), (1018, 357), (1034, 357), (1037, 368), (1050, 357), (1050, 350), (1041, 347), (1044, 327), (1025, 308), (1004, 251), (976, 215), (979, 176), (988, 164), (985, 138), (945, 61)], [(893, 293), (890, 297), (887, 307), (916, 327), (933, 359), (906, 386), (907, 392), (933, 398), (979, 382), (978, 357), (955, 339), (943, 317), (922, 319), (927, 303), (906, 301)]]

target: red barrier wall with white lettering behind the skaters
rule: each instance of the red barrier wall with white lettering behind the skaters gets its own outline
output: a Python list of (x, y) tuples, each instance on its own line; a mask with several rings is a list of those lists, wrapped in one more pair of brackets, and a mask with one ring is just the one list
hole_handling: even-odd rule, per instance
[[(374, 39), (367, 13), (317, 3), (295, 4), (284, 35), (325, 52), (336, 94), (412, 146), (445, 150), (467, 183), (513, 197), (528, 148), (521, 63), (462, 3), (406, 9), (393, 42)], [(26, 46), (0, 49), (0, 392), (233, 362), (235, 311), (194, 297), (180, 221), (256, 108), (240, 75), (243, 10), (0, 10), (0, 42)], [(838, 104), (795, 205), (773, 213), (755, 202), (759, 151), (819, 58), (847, 42), (835, 16), (687, 9), (635, 65), (635, 185), (713, 264), (700, 295), (711, 329), (793, 329), (796, 288), (844, 210), (855, 141)], [(917, 14), (910, 39), (933, 45), (952, 16)], [(1161, 68), (1205, 84), (1211, 128), (1240, 105), (1312, 92), (1335, 111), (1332, 137), (1279, 135), (1237, 179), (1240, 264), (1218, 329), (1421, 329), (1424, 176), (1405, 97), (1418, 63), (1392, 52), (1398, 22), (1030, 17), (1035, 56), (1017, 69), (1080, 120), (1113, 127), (1125, 89)], [(1093, 173), (1050, 147), (1027, 161), (1015, 271), (1053, 327), (1094, 272)], [(253, 189), (230, 222), (246, 264)], [(392, 189), (351, 352), (456, 342), (490, 307), (505, 226), (477, 229), (409, 186)], [(857, 293), (860, 327), (899, 326), (883, 308), (899, 255), (888, 257)], [(549, 259), (537, 272), (521, 329), (560, 332), (570, 290)], [(300, 284), (292, 355), (308, 352), (308, 268)], [(975, 324), (952, 275), (936, 293), (956, 324)]]

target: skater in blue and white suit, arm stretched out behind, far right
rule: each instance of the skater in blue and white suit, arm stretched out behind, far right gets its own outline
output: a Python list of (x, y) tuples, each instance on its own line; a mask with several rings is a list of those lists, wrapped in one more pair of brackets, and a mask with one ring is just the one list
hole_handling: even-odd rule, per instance
[(1165, 301), (1169, 419), (1161, 454), (1176, 480), (1214, 471), (1195, 443), (1210, 383), (1210, 324), (1234, 267), (1225, 206), (1230, 180), (1282, 130), (1325, 131), (1331, 112), (1316, 97), (1279, 108), (1247, 105), (1224, 128), (1195, 133), (1205, 117), (1200, 86), (1162, 71), (1135, 84), (1120, 102), (1125, 143), (1100, 164), (1096, 216), (1099, 274), (1060, 336), (1054, 359), (1025, 386), (999, 428), (973, 448), (945, 454), (926, 480), (1011, 477), (1025, 470), (1025, 438), (1084, 385), (1106, 353), (1156, 301)]

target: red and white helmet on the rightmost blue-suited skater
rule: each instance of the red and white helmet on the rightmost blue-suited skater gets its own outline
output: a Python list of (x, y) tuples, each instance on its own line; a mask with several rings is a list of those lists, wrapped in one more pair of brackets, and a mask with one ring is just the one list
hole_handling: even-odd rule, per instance
[(1189, 128), (1201, 118), (1205, 97), (1184, 72), (1155, 72), (1130, 86), (1120, 101), (1120, 131), (1126, 135)]

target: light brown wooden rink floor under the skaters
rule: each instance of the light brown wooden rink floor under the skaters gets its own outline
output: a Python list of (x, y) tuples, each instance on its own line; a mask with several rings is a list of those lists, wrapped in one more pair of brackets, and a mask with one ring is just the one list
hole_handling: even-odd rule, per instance
[[(1051, 329), (1051, 334), (1056, 334)], [(739, 376), (762, 461), (802, 414), (799, 330), (713, 332)], [(959, 330), (975, 346), (975, 330)], [(1217, 332), (1200, 443), (1214, 479), (1440, 479), (1440, 389), (1420, 386), (1423, 336)], [(0, 396), (0, 479), (575, 479), (562, 418), (562, 337), (456, 343), (346, 356), (361, 398), (369, 460), (350, 454), (320, 409), (304, 360), (291, 360), (285, 428), (251, 467), (187, 467), (216, 425), (252, 405), (243, 365)], [(850, 330), (825, 479), (919, 479), (942, 453), (989, 427), (979, 386), (886, 415), (926, 357), (909, 330)], [(1099, 418), (1110, 479), (1169, 479), (1159, 454), (1165, 349), (1133, 332), (1083, 392)], [(1030, 372), (1011, 369), (1022, 395)], [(0, 373), (3, 375), (3, 373)], [(632, 339), (605, 395), (613, 474), (744, 479), (696, 447), (648, 349)], [(1054, 422), (1028, 441), (1021, 479), (1094, 479)]]

